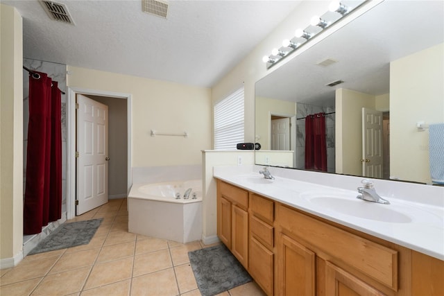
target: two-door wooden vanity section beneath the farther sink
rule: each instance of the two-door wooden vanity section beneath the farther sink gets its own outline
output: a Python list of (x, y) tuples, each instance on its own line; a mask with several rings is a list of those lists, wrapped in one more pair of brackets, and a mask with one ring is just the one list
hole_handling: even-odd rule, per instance
[(248, 191), (217, 182), (217, 235), (248, 269)]

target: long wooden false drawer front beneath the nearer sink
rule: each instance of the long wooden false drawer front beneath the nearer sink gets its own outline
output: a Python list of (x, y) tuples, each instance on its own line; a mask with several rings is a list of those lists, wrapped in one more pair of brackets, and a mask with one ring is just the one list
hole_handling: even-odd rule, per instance
[(278, 204), (276, 221), (282, 232), (325, 252), (332, 260), (398, 290), (398, 252)]

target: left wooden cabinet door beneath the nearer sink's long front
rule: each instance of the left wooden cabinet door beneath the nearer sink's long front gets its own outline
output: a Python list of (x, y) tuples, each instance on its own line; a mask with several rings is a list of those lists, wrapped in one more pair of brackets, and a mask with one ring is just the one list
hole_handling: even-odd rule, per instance
[(284, 234), (278, 235), (276, 295), (314, 296), (316, 254)]

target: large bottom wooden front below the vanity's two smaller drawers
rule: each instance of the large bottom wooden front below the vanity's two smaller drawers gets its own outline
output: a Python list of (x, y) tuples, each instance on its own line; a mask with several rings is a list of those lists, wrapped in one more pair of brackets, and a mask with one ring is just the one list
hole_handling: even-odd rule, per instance
[(248, 271), (266, 295), (273, 295), (273, 252), (264, 247), (253, 236), (250, 236), (248, 256), (250, 256)]

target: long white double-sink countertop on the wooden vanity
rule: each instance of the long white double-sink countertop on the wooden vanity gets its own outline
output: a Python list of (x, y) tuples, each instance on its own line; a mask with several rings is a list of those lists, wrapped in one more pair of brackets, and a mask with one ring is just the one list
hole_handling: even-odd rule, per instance
[[(391, 204), (359, 200), (357, 191), (253, 171), (214, 167), (214, 177), (296, 209), (444, 260), (444, 207), (386, 197)], [(360, 184), (358, 183), (357, 186)], [(378, 192), (377, 186), (375, 186)]]

